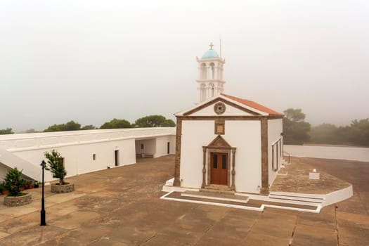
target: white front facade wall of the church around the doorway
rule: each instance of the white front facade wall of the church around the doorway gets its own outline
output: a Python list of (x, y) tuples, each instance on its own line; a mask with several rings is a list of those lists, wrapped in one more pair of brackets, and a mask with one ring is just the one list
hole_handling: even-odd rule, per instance
[[(259, 121), (226, 121), (222, 135), (235, 153), (235, 187), (238, 192), (259, 193), (261, 186), (261, 137)], [(181, 138), (181, 186), (200, 188), (202, 146), (214, 138), (214, 121), (183, 120)], [(206, 165), (207, 167), (207, 165)], [(231, 167), (231, 163), (230, 163)], [(206, 175), (207, 176), (207, 175)], [(228, 177), (231, 180), (231, 174)]]

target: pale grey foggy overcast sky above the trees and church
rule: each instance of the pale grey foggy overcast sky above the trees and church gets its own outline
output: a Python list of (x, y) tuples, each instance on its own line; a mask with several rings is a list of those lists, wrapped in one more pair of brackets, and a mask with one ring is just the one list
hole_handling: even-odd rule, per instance
[(369, 117), (369, 1), (0, 1), (0, 129), (173, 113), (212, 41), (225, 91), (313, 125)]

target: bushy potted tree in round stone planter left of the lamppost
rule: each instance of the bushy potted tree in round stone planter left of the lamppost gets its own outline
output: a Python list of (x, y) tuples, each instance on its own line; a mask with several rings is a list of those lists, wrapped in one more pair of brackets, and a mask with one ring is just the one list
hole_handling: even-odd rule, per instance
[(6, 173), (4, 187), (9, 190), (9, 193), (4, 197), (4, 205), (15, 207), (31, 203), (31, 193), (23, 193), (20, 190), (22, 186), (21, 176), (22, 170), (18, 170), (17, 167)]

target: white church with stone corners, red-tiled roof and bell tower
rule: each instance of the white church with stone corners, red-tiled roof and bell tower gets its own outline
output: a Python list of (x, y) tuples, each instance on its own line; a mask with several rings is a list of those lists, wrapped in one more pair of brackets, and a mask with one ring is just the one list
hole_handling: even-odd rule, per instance
[(197, 58), (199, 102), (177, 112), (173, 186), (268, 194), (283, 158), (283, 114), (224, 92), (210, 44)]

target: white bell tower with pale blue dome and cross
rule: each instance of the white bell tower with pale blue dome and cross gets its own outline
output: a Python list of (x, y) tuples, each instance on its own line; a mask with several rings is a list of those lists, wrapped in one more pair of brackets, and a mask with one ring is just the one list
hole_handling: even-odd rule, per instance
[(221, 58), (213, 49), (213, 43), (209, 44), (209, 50), (202, 58), (196, 57), (198, 62), (198, 93), (199, 103), (218, 96), (224, 91), (223, 66), (226, 60)]

